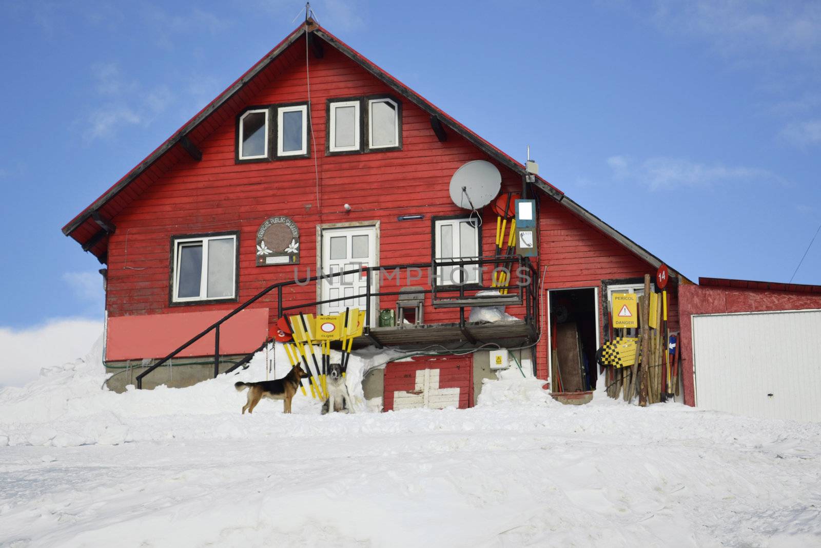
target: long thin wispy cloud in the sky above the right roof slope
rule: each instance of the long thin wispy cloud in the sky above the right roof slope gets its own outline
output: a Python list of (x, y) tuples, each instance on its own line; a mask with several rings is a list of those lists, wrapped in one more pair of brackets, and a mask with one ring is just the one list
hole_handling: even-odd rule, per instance
[(638, 182), (653, 191), (676, 187), (714, 187), (732, 182), (783, 182), (781, 177), (766, 169), (728, 167), (721, 163), (706, 165), (661, 156), (638, 163), (626, 156), (611, 156), (607, 163), (617, 180)]

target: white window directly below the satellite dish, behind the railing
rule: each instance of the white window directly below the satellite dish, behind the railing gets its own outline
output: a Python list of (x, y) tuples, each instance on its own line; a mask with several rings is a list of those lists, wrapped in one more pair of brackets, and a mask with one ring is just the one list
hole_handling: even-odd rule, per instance
[[(447, 219), (433, 223), (435, 257), (439, 260), (479, 258), (479, 228), (470, 219)], [(449, 265), (436, 269), (438, 285), (479, 283), (479, 265)]]

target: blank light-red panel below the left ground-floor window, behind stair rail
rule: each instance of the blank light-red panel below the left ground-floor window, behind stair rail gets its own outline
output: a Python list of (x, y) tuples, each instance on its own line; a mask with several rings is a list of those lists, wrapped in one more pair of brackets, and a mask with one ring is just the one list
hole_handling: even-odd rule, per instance
[[(162, 358), (182, 343), (219, 320), (230, 309), (180, 312), (177, 314), (131, 315), (108, 318), (106, 360)], [(261, 345), (268, 334), (268, 309), (239, 312), (220, 326), (220, 353), (247, 354)], [(200, 338), (179, 357), (213, 356), (213, 332)]]

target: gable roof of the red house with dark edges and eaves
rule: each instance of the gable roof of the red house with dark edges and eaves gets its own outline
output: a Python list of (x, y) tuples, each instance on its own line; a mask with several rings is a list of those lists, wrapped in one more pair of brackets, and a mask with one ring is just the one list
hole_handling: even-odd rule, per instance
[[(77, 214), (74, 219), (71, 219), (71, 221), (62, 228), (62, 232), (79, 242), (85, 251), (91, 251), (94, 256), (98, 257), (100, 262), (106, 262), (108, 234), (112, 233), (115, 229), (110, 223), (110, 219), (126, 208), (132, 200), (135, 200), (145, 188), (157, 180), (157, 178), (167, 171), (167, 169), (171, 168), (172, 165), (177, 163), (179, 159), (187, 154), (198, 154), (199, 150), (196, 149), (196, 145), (204, 140), (221, 122), (224, 122), (228, 117), (232, 117), (236, 111), (240, 110), (244, 105), (245, 97), (255, 93), (260, 87), (272, 81), (279, 71), (282, 71), (291, 64), (293, 55), (289, 54), (289, 48), (303, 36), (311, 42), (315, 39), (320, 39), (322, 44), (328, 44), (336, 48), (379, 81), (382, 81), (385, 85), (392, 88), (392, 90), (395, 90), (397, 94), (400, 94), (404, 99), (415, 104), (424, 112), (429, 113), (432, 122), (434, 117), (438, 118), (438, 121), (443, 126), (465, 138), (479, 150), (488, 154), (490, 158), (497, 160), (505, 167), (511, 169), (512, 172), (521, 176), (527, 174), (525, 166), (522, 163), (512, 159), (511, 156), (499, 150), (498, 147), (484, 140), (460, 122), (457, 122), (453, 117), (443, 112), (442, 109), (436, 107), (427, 99), (424, 99), (420, 94), (411, 90), (410, 87), (398, 81), (395, 77), (388, 74), (387, 71), (384, 71), (369, 61), (369, 59), (356, 52), (355, 49), (332, 35), (328, 30), (325, 30), (315, 21), (309, 19), (305, 21), (304, 24), (299, 25), (290, 35), (283, 39), (282, 42), (265, 54), (253, 67), (245, 71), (245, 74), (240, 76), (232, 85), (229, 85), (216, 99), (213, 99), (213, 101), (200, 110), (199, 113), (191, 117), (188, 122), (183, 124), (180, 129), (168, 137), (162, 145), (159, 145), (157, 149), (132, 168), (130, 172), (126, 173), (126, 175), (114, 183), (112, 187), (103, 192), (97, 200), (94, 200), (94, 202)], [(658, 257), (633, 242), (630, 238), (619, 233), (615, 228), (604, 223), (594, 214), (591, 214), (588, 210), (576, 204), (575, 201), (567, 198), (562, 191), (544, 180), (544, 178), (537, 176), (535, 186), (541, 191), (544, 191), (544, 193), (553, 198), (553, 200), (565, 205), (569, 210), (585, 219), (588, 223), (599, 228), (603, 233), (608, 234), (608, 236), (621, 243), (621, 245), (626, 246), (650, 265), (658, 267), (658, 265), (662, 264), (662, 261), (659, 260)], [(672, 269), (671, 274), (673, 276), (680, 275)]]

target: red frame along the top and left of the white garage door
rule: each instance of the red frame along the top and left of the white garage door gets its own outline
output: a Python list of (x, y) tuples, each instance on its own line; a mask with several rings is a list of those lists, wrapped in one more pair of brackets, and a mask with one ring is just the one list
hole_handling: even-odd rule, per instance
[[(736, 285), (748, 286), (748, 283), (742, 283), (743, 280), (732, 280), (732, 282), (736, 282)], [(821, 295), (819, 294), (731, 286), (731, 283), (727, 283), (722, 287), (685, 285), (679, 288), (681, 373), (684, 381), (684, 401), (687, 405), (695, 405), (692, 315), (821, 309)]]

